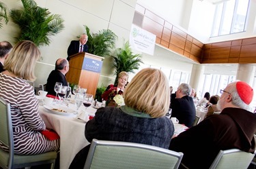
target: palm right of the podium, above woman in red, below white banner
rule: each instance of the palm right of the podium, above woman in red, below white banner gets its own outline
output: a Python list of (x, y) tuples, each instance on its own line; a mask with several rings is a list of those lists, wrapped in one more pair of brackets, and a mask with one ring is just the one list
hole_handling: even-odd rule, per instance
[(140, 63), (143, 63), (140, 54), (132, 54), (129, 41), (124, 43), (123, 48), (117, 48), (111, 57), (113, 58), (113, 66), (115, 67), (115, 84), (117, 84), (118, 74), (120, 72), (134, 73), (134, 70), (139, 69)]

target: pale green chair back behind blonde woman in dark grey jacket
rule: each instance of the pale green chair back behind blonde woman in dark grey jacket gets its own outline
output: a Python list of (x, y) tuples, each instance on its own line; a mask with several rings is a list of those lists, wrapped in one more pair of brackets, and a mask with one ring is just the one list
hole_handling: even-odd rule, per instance
[(178, 168), (182, 157), (152, 145), (93, 139), (84, 168)]

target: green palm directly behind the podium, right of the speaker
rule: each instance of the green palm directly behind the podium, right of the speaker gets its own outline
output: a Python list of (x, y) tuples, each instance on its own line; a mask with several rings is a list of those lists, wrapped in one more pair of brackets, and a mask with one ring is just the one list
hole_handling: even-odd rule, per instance
[(88, 53), (98, 56), (109, 56), (111, 49), (115, 47), (115, 39), (117, 35), (109, 29), (103, 29), (98, 33), (91, 33), (88, 26), (85, 26), (88, 36)]

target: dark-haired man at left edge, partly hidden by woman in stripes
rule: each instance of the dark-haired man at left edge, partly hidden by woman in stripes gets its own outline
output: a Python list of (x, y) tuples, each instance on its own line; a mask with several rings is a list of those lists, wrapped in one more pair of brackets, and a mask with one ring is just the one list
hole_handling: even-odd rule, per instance
[(12, 44), (8, 41), (0, 42), (0, 73), (4, 71), (3, 63), (12, 50)]

